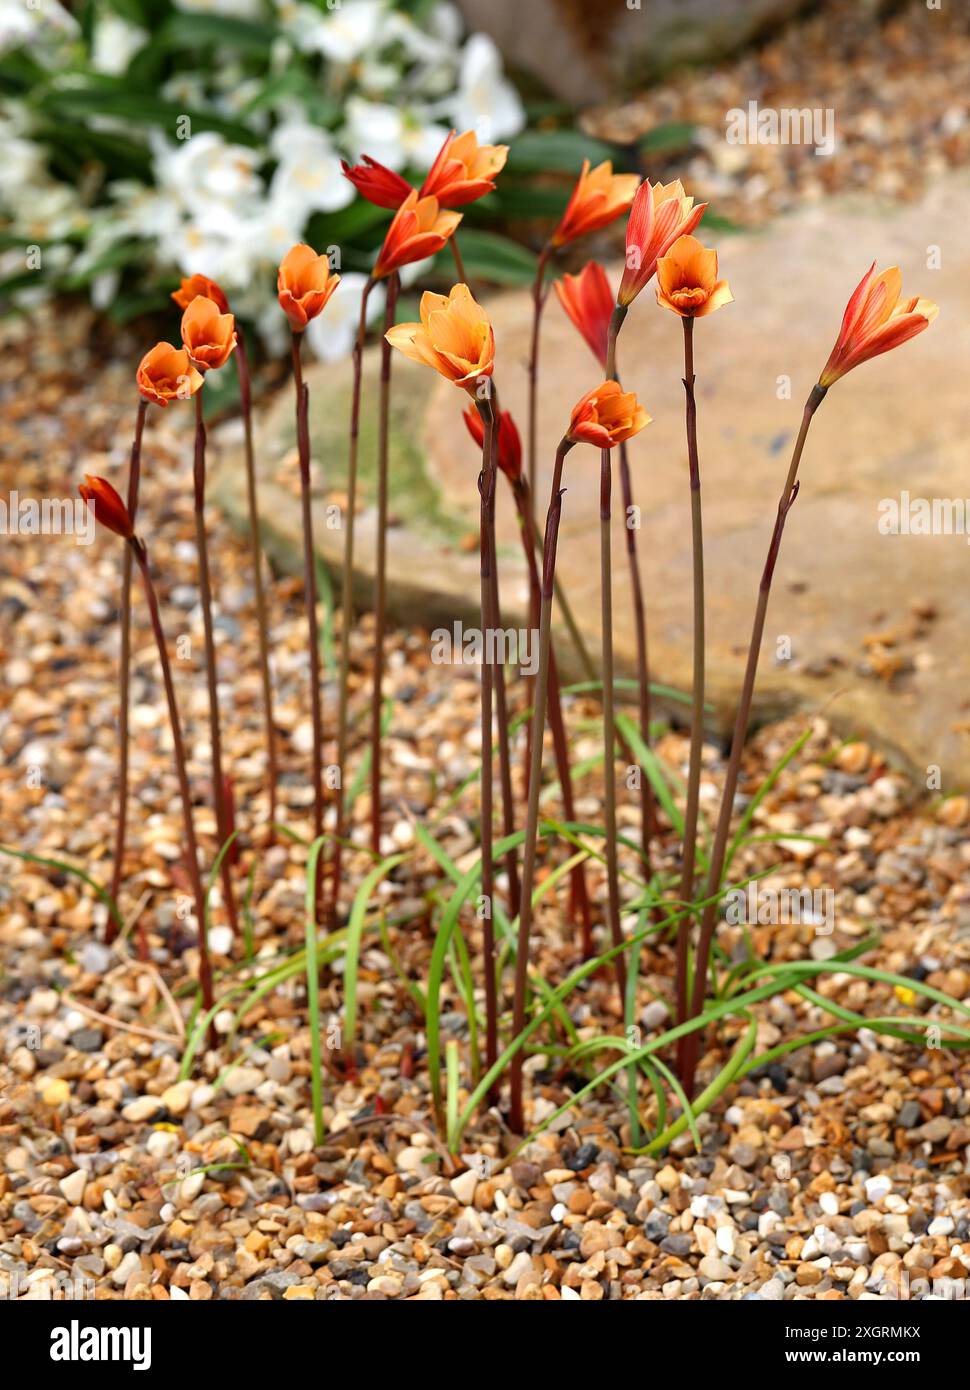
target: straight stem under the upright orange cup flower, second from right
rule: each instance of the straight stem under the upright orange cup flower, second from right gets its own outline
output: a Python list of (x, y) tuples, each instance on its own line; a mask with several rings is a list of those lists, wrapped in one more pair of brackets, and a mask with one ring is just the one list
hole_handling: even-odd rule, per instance
[[(693, 670), (691, 676), (691, 762), (684, 813), (684, 865), (681, 902), (693, 901), (693, 865), (698, 847), (700, 756), (705, 742), (705, 542), (698, 459), (698, 406), (693, 396), (693, 318), (684, 320), (684, 391), (687, 395), (687, 456), (691, 481), (691, 562), (693, 573)], [(687, 1019), (691, 917), (677, 929), (677, 1022)], [(688, 1034), (689, 1036), (689, 1034)]]

